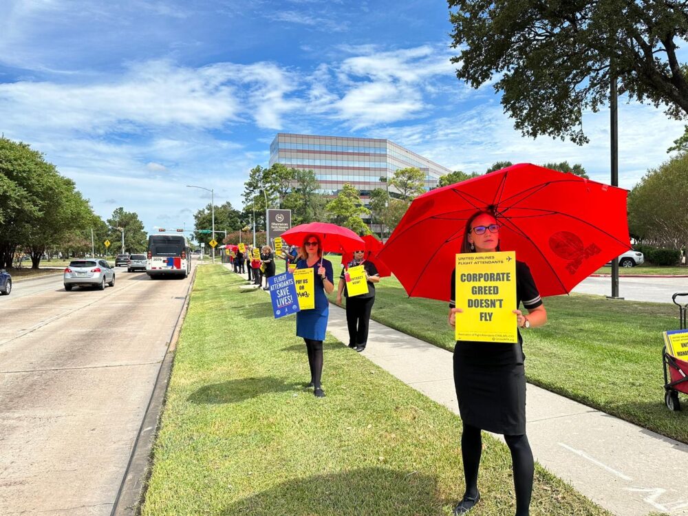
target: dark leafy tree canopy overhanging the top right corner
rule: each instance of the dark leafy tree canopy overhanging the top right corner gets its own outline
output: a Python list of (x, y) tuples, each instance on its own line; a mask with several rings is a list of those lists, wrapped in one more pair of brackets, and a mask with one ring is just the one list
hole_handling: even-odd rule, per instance
[(474, 88), (492, 83), (526, 136), (588, 142), (581, 116), (619, 93), (667, 115), (688, 114), (688, 10), (676, 0), (449, 0), (456, 75)]

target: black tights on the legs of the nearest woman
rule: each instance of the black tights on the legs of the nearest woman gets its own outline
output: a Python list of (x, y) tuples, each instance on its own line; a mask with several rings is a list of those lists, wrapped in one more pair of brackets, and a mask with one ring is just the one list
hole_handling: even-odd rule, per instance
[[(513, 462), (516, 516), (528, 516), (530, 495), (533, 493), (533, 452), (530, 451), (530, 444), (525, 433), (522, 436), (504, 436), (504, 439), (511, 451)], [(469, 497), (477, 495), (477, 470), (480, 466), (481, 453), (480, 429), (464, 423), (461, 435), (461, 455), (464, 461), (466, 495)]]

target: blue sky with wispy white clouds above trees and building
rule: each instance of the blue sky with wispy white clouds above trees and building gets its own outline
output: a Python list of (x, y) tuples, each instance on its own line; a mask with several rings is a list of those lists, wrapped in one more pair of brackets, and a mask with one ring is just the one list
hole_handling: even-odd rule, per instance
[[(454, 76), (444, 1), (0, 0), (0, 131), (45, 154), (104, 218), (193, 226), (241, 208), (279, 131), (389, 138), (449, 169), (580, 162), (610, 181), (609, 114), (590, 144), (522, 138), (489, 86)], [(682, 124), (619, 105), (619, 184), (667, 159)]]

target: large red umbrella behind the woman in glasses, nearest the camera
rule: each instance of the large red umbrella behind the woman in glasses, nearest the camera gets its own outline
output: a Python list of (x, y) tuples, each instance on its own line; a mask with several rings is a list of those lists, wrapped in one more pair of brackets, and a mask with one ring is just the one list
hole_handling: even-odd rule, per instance
[(570, 173), (509, 166), (417, 197), (380, 258), (409, 297), (448, 301), (466, 220), (492, 211), (502, 225), (500, 249), (528, 264), (540, 295), (566, 294), (630, 248), (626, 195)]

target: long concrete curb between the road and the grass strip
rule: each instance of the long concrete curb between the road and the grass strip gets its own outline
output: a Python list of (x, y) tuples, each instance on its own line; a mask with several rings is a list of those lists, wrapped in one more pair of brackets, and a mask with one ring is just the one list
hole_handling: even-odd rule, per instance
[(172, 372), (175, 349), (180, 331), (182, 330), (182, 323), (184, 323), (186, 312), (189, 310), (191, 288), (193, 288), (195, 278), (196, 269), (194, 268), (191, 281), (189, 282), (189, 290), (186, 291), (184, 305), (182, 305), (182, 310), (175, 323), (175, 327), (170, 334), (167, 351), (160, 363), (158, 377), (155, 378), (155, 386), (153, 387), (148, 407), (131, 449), (129, 464), (127, 464), (127, 470), (122, 477), (122, 483), (117, 491), (110, 516), (135, 516), (140, 514), (140, 508), (145, 497), (146, 484), (152, 471), (151, 455), (153, 443), (160, 429), (160, 416), (166, 400), (167, 385)]

